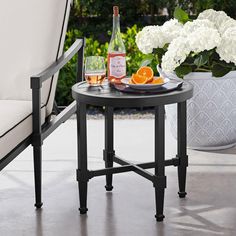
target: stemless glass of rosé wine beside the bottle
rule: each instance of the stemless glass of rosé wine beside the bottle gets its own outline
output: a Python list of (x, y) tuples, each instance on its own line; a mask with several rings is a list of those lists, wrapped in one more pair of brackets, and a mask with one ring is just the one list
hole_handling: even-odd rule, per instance
[(106, 78), (104, 57), (89, 56), (85, 60), (85, 79), (91, 86), (100, 86)]

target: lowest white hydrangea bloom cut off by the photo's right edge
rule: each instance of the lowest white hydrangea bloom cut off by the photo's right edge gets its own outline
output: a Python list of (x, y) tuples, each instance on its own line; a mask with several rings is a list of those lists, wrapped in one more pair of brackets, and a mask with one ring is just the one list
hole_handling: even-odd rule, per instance
[(224, 32), (221, 44), (217, 47), (216, 52), (221, 60), (236, 64), (236, 27), (228, 28)]

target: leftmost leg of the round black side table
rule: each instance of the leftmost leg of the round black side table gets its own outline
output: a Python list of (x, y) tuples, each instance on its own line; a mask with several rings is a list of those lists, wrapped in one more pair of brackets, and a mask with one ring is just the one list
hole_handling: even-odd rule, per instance
[(78, 134), (78, 169), (77, 181), (79, 187), (79, 200), (81, 214), (88, 211), (87, 190), (88, 190), (88, 169), (87, 169), (87, 127), (86, 127), (86, 104), (77, 103), (77, 134)]

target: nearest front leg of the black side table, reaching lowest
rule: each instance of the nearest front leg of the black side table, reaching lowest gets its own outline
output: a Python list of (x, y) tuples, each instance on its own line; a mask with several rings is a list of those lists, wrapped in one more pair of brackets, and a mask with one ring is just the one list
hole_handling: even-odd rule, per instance
[(165, 176), (165, 112), (164, 105), (155, 107), (155, 194), (156, 220), (163, 221)]

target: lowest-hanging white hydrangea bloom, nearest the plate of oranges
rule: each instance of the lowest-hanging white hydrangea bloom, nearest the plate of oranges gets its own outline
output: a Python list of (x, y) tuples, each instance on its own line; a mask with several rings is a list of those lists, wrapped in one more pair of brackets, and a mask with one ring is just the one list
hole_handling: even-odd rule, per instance
[(189, 42), (186, 37), (178, 37), (174, 39), (169, 47), (168, 51), (162, 57), (162, 69), (165, 72), (173, 72), (191, 52)]

